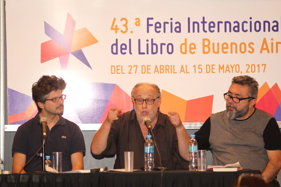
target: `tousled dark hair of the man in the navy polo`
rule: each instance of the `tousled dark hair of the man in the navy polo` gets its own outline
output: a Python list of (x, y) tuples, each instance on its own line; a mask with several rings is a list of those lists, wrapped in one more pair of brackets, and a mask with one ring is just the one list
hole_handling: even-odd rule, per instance
[(45, 100), (49, 96), (51, 91), (64, 90), (66, 82), (61, 77), (54, 75), (43, 75), (37, 82), (32, 85), (32, 98), (35, 101), (38, 110), (41, 112), (41, 108), (38, 106), (38, 102), (45, 103)]

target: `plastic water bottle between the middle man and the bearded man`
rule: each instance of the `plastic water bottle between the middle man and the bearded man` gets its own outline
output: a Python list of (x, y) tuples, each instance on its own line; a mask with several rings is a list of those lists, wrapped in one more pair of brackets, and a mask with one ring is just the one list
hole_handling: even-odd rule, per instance
[(189, 149), (189, 171), (197, 171), (197, 141), (195, 139), (195, 135), (190, 135), (190, 140), (188, 144)]

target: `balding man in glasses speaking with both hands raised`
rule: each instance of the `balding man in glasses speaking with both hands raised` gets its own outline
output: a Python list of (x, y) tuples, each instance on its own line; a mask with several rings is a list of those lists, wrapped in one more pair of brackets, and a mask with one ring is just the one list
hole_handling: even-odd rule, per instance
[[(134, 169), (144, 167), (144, 142), (148, 129), (143, 120), (150, 118), (162, 166), (187, 169), (189, 136), (177, 112), (166, 115), (158, 110), (161, 102), (159, 87), (151, 83), (138, 83), (132, 89), (131, 97), (134, 110), (121, 115), (121, 108), (109, 110), (92, 140), (91, 151), (94, 156), (102, 158), (116, 154), (114, 169), (120, 169), (125, 167), (124, 151), (133, 151)], [(155, 167), (160, 167), (156, 148), (154, 162)]]

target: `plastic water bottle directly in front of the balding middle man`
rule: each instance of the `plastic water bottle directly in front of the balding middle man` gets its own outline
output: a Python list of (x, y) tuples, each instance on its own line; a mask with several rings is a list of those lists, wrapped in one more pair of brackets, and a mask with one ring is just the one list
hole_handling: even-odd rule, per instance
[(154, 142), (151, 139), (151, 135), (146, 136), (144, 143), (144, 170), (152, 171), (154, 168)]

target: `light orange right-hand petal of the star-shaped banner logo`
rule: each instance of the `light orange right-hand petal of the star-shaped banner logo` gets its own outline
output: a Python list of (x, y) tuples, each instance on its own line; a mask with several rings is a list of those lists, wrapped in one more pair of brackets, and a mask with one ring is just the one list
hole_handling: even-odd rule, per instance
[(97, 43), (97, 39), (90, 33), (87, 28), (76, 30), (73, 35), (70, 52), (77, 51), (83, 47)]

